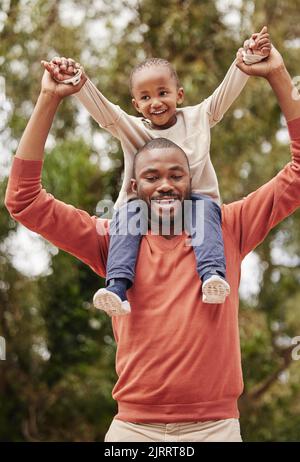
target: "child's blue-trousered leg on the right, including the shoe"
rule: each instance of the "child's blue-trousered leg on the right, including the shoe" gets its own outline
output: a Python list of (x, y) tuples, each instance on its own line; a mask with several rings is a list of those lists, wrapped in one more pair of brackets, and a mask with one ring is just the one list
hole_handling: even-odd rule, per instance
[(230, 293), (226, 282), (226, 262), (221, 226), (221, 209), (209, 196), (191, 195), (185, 209), (185, 227), (191, 235), (196, 267), (202, 280), (202, 300), (223, 303)]

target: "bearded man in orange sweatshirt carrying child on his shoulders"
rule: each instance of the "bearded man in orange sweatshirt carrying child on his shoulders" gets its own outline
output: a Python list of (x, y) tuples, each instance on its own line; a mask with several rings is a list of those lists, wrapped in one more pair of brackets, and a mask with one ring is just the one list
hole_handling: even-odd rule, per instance
[[(143, 237), (130, 289), (130, 316), (112, 320), (117, 342), (113, 390), (118, 414), (106, 441), (241, 441), (237, 400), (243, 390), (238, 331), (238, 286), (242, 259), (271, 228), (300, 205), (300, 101), (280, 54), (238, 66), (266, 78), (288, 121), (292, 161), (243, 200), (222, 207), (222, 226), (231, 294), (222, 306), (201, 301), (201, 282), (186, 235)], [(44, 146), (61, 100), (78, 86), (54, 82), (47, 71), (36, 107), (17, 149), (7, 188), (11, 215), (102, 277), (108, 250), (107, 220), (53, 198), (40, 184)], [(158, 140), (158, 142), (160, 142)], [(151, 142), (153, 143), (153, 141)], [(155, 164), (159, 181), (147, 181)], [(180, 168), (180, 188), (170, 171)], [(132, 186), (148, 206), (176, 192), (188, 196), (189, 172), (176, 146), (146, 145), (136, 158)], [(151, 290), (155, 286), (153, 293)]]

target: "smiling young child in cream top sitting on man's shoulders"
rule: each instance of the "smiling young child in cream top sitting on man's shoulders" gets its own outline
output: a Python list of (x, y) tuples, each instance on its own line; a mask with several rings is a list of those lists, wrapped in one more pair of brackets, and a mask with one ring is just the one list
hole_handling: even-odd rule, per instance
[[(266, 58), (270, 48), (269, 35), (264, 27), (244, 43), (245, 63), (252, 64)], [(72, 59), (53, 58), (49, 63), (42, 63), (55, 80), (67, 84), (76, 85), (84, 73), (80, 64)], [(150, 139), (164, 137), (185, 151), (192, 176), (193, 210), (195, 201), (204, 201), (204, 241), (196, 245), (191, 234), (191, 242), (205, 303), (224, 303), (230, 293), (225, 278), (220, 194), (209, 155), (210, 128), (222, 119), (247, 79), (248, 76), (236, 67), (234, 61), (223, 82), (209, 98), (195, 106), (177, 108), (183, 102), (184, 90), (175, 70), (164, 59), (150, 58), (136, 66), (130, 77), (132, 103), (143, 117), (126, 114), (119, 106), (109, 102), (89, 79), (76, 95), (100, 127), (121, 141), (124, 152), (124, 180), (115, 204), (117, 210), (111, 230), (118, 228), (119, 213), (125, 212), (129, 217), (133, 213), (129, 211), (129, 204), (132, 206), (136, 196), (131, 192), (130, 180), (137, 150)], [(130, 209), (133, 210), (132, 207)], [(93, 301), (97, 308), (109, 315), (123, 315), (130, 312), (126, 291), (134, 280), (141, 235), (118, 235), (112, 231), (110, 234), (106, 288), (99, 289)]]

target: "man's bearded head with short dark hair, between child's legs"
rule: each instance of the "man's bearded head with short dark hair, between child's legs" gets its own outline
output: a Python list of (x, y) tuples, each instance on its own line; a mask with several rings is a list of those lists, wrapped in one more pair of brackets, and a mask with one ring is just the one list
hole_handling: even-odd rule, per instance
[[(142, 152), (136, 160), (132, 190), (145, 201), (152, 218), (182, 213), (183, 202), (191, 193), (191, 177), (184, 154), (177, 148)], [(153, 216), (154, 214), (154, 216)]]

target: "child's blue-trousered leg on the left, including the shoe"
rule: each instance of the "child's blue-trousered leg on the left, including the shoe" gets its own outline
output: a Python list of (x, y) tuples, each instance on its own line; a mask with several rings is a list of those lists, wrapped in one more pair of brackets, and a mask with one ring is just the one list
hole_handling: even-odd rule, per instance
[(110, 316), (130, 313), (126, 291), (133, 284), (141, 238), (148, 226), (143, 205), (138, 199), (127, 202), (114, 212), (110, 223), (106, 288), (93, 298), (95, 307)]

